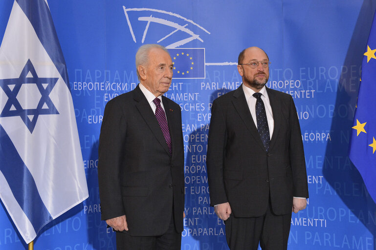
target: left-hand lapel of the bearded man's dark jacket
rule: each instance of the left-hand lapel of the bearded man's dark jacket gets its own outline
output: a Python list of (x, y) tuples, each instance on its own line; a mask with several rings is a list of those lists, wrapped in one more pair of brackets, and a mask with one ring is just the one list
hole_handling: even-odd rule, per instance
[(235, 109), (239, 113), (240, 117), (242, 118), (245, 126), (248, 128), (249, 132), (255, 139), (255, 142), (259, 144), (262, 148), (265, 149), (263, 142), (261, 141), (261, 137), (259, 131), (257, 131), (256, 125), (253, 122), (251, 112), (249, 111), (247, 101), (245, 100), (245, 95), (243, 92), (243, 86), (240, 85), (234, 92), (234, 99), (232, 103), (235, 106)]

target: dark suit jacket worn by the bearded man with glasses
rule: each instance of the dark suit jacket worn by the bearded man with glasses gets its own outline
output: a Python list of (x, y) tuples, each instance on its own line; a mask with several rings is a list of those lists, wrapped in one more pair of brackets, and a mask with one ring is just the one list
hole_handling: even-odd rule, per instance
[(242, 86), (213, 102), (207, 171), (211, 205), (230, 203), (236, 217), (288, 214), (292, 198), (307, 197), (303, 142), (292, 97), (266, 88), (274, 118), (268, 152)]

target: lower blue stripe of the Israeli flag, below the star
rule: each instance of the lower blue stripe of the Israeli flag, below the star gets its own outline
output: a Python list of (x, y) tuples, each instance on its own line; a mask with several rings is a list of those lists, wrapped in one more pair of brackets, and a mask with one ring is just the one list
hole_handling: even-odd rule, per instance
[(44, 206), (33, 176), (1, 125), (0, 171), (35, 232), (38, 232), (52, 217)]

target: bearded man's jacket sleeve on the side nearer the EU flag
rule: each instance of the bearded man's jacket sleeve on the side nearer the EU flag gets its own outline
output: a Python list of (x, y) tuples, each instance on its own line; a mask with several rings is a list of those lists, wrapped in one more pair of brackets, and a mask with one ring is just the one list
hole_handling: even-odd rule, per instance
[(308, 198), (306, 160), (304, 157), (302, 133), (300, 130), (299, 119), (296, 113), (295, 104), (291, 96), (289, 106), (289, 116), (291, 120), (289, 157), (294, 185), (293, 196)]

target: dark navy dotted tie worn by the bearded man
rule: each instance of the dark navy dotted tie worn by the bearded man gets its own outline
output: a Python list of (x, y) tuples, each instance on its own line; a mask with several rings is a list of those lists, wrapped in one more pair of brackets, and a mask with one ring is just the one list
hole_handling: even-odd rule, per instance
[(257, 120), (257, 130), (263, 144), (265, 146), (266, 152), (269, 150), (270, 135), (269, 126), (267, 125), (266, 111), (263, 100), (261, 100), (261, 93), (254, 93), (253, 96), (257, 99), (256, 101), (256, 120)]

